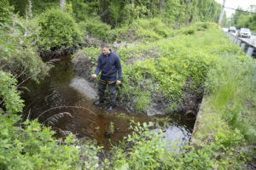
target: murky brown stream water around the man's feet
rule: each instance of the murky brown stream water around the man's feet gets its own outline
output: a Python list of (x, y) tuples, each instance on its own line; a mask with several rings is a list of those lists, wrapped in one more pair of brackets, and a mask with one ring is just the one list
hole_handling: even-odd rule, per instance
[(73, 80), (73, 64), (64, 57), (40, 84), (27, 82), (30, 92), (23, 94), (26, 116), (30, 112), (31, 120), (38, 118), (39, 122), (50, 125), (57, 132), (57, 137), (73, 133), (79, 139), (96, 139), (97, 144), (105, 149), (109, 148), (110, 140), (114, 144), (131, 133), (131, 120), (158, 122), (159, 126), (164, 126), (167, 140), (189, 141), (195, 119), (179, 115), (137, 116), (122, 108), (108, 112), (105, 111), (106, 106), (92, 105), (94, 100), (71, 88)]

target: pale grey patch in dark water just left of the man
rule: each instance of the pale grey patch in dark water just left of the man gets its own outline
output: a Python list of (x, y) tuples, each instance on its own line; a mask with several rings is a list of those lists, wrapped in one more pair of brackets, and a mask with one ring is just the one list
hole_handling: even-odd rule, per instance
[(74, 77), (69, 86), (86, 95), (89, 99), (98, 99), (96, 89), (92, 88), (93, 84), (82, 77)]

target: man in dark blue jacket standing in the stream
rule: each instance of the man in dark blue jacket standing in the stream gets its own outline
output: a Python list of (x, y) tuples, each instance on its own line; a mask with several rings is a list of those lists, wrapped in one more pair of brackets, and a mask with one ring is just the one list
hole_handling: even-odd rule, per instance
[(116, 84), (121, 83), (122, 67), (119, 56), (109, 49), (107, 43), (102, 44), (102, 54), (98, 58), (96, 71), (90, 77), (96, 78), (100, 71), (102, 71), (102, 77), (98, 84), (100, 98), (94, 105), (100, 105), (104, 102), (104, 94), (108, 85), (111, 101), (107, 111), (112, 111), (115, 107)]

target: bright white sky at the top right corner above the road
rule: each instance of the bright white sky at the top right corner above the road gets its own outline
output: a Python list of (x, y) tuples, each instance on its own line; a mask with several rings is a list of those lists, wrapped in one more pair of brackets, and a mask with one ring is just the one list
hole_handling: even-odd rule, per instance
[[(215, 0), (218, 3), (223, 3), (223, 0)], [(250, 5), (256, 5), (256, 0), (226, 0), (225, 7), (229, 8), (237, 8), (241, 7), (242, 9), (246, 10), (250, 7)], [(227, 17), (230, 17), (231, 14), (235, 13), (235, 10), (224, 8), (226, 11)]]

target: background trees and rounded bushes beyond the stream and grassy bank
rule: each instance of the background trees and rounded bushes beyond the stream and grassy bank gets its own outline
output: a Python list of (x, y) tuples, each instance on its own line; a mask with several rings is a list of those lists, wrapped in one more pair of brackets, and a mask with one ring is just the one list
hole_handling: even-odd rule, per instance
[[(85, 2), (67, 0), (64, 11), (61, 11), (60, 1), (57, 0), (33, 0), (22, 1), (22, 3), (20, 0), (12, 0), (9, 3), (13, 5), (15, 13), (27, 16), (30, 11), (31, 15), (36, 16), (39, 28), (37, 44), (39, 52), (43, 55), (44, 52), (49, 54), (50, 51), (53, 51), (53, 54), (67, 54), (68, 51), (73, 51), (73, 48), (84, 43), (82, 41), (84, 35), (90, 35), (105, 42), (122, 41), (123, 37), (128, 39), (129, 34), (133, 32), (137, 34), (137, 37), (145, 37), (144, 35), (157, 39), (169, 37), (172, 33), (164, 28), (165, 26), (159, 20), (147, 23), (148, 20), (144, 19), (161, 18), (168, 23), (167, 27), (171, 27), (177, 24), (188, 25), (195, 21), (217, 22), (220, 12), (220, 4), (214, 0), (111, 2), (108, 0)], [(137, 19), (144, 20), (143, 23), (146, 25), (138, 26), (141, 22)], [(113, 27), (118, 27), (120, 31), (113, 31)], [(143, 29), (137, 32), (137, 27)], [(146, 31), (145, 29), (148, 28), (149, 30)]]

